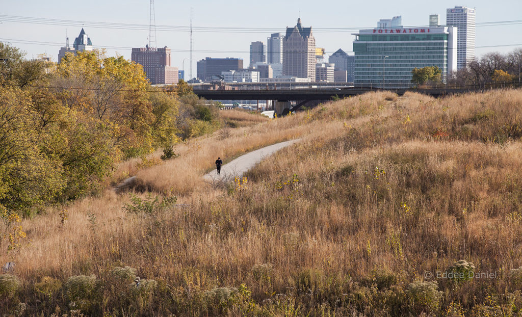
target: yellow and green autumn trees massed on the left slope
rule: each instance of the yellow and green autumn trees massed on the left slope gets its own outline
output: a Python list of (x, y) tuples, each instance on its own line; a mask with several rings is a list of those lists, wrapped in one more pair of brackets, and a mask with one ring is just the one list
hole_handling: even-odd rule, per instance
[(217, 107), (186, 83), (152, 87), (122, 56), (54, 64), (0, 42), (0, 215), (96, 193), (118, 161), (218, 126)]

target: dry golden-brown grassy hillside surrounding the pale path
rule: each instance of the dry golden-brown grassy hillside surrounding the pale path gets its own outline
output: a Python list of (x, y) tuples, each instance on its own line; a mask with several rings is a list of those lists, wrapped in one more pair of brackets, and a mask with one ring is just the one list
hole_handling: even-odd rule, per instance
[[(520, 90), (369, 93), (189, 140), (137, 172), (152, 196), (108, 190), (21, 221), (0, 308), (518, 315), (521, 116)], [(297, 137), (243, 180), (201, 181), (217, 156)]]

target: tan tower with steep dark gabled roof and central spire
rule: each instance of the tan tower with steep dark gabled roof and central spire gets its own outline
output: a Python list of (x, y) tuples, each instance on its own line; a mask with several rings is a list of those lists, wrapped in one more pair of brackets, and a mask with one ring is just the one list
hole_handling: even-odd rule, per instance
[(303, 28), (301, 18), (287, 27), (283, 39), (283, 75), (315, 80), (315, 38), (312, 27)]

